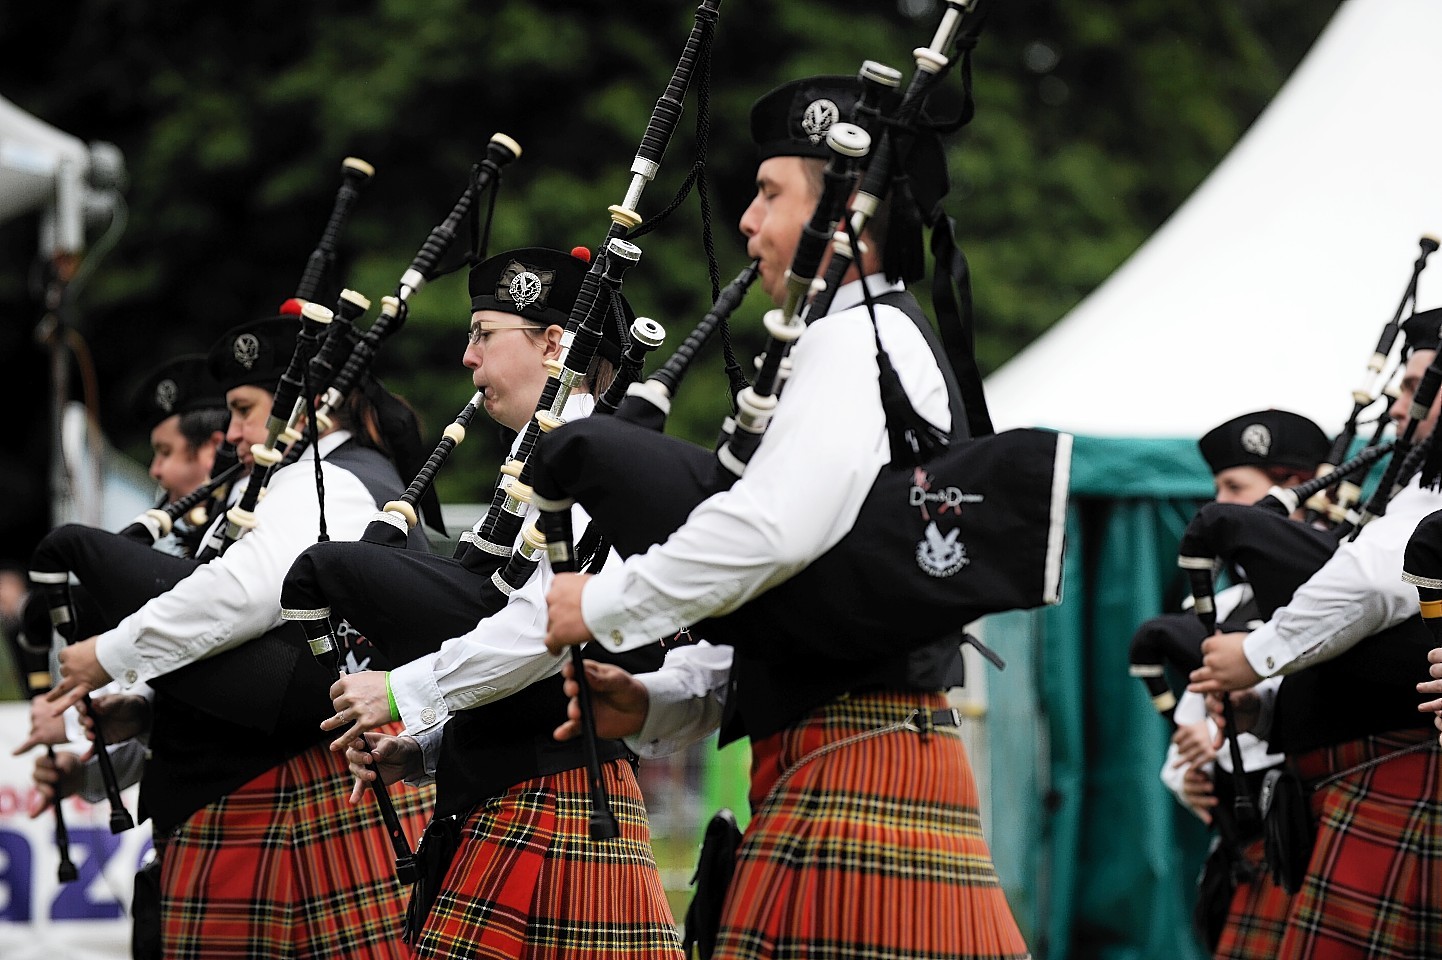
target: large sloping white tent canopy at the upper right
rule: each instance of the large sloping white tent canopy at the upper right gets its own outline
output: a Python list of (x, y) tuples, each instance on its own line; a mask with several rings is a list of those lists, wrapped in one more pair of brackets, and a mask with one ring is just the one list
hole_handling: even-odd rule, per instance
[[(986, 381), (996, 428), (1195, 437), (1280, 406), (1335, 432), (1419, 238), (1442, 236), (1439, 50), (1442, 1), (1343, 0), (1181, 209)], [(1442, 254), (1417, 308), (1439, 274)]]

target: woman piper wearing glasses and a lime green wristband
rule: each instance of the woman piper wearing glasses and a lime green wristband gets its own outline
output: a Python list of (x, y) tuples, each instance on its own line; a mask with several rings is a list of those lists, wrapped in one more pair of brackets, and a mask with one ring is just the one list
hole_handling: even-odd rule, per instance
[[(585, 272), (583, 259), (545, 248), (499, 254), (472, 270), (463, 362), (485, 395), (486, 414), (502, 427), (521, 431), (535, 414)], [(629, 321), (630, 307), (620, 303)], [(588, 415), (613, 378), (622, 347), (611, 320), (564, 419)], [(584, 519), (577, 510), (577, 535)], [(454, 574), (448, 561), (425, 564), (437, 566), (438, 577)], [(363, 575), (360, 564), (355, 566)], [(434, 777), (437, 784), (435, 816), (421, 843), (423, 882), (412, 901), (417, 957), (682, 956), (627, 751), (619, 741), (600, 744), (620, 836), (597, 843), (588, 836), (585, 751), (551, 739), (567, 702), (561, 657), (542, 641), (552, 578), (542, 558), (505, 607), (479, 623), (473, 617), (476, 626), (440, 643), (437, 653), (389, 673), (342, 677), (332, 689), (336, 716), (323, 726), (345, 728), (332, 750), (349, 747), (359, 780), (373, 780), (378, 770), (386, 783), (404, 775)], [(415, 587), (434, 590), (435, 582)], [(356, 590), (352, 600), (363, 592)], [(411, 600), (423, 620), (421, 611), (433, 605), (466, 603)], [(335, 597), (332, 604), (348, 615)], [(356, 750), (362, 732), (392, 719), (405, 722), (407, 735), (368, 734), (371, 755)], [(444, 850), (437, 862), (447, 837), (454, 853)]]

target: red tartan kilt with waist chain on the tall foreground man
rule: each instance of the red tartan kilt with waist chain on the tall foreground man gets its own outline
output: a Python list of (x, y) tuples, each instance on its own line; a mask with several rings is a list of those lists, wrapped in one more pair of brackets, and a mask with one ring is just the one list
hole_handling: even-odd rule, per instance
[(1030, 956), (959, 731), (877, 734), (945, 706), (939, 693), (851, 695), (753, 744), (754, 816), (714, 960)]

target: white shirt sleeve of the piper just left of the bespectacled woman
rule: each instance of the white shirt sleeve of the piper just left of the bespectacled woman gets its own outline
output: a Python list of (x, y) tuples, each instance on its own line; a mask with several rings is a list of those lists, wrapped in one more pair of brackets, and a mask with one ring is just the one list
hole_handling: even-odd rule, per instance
[[(343, 430), (322, 437), (322, 457), (349, 438)], [(375, 515), (375, 497), (350, 471), (324, 460), (320, 468), (330, 538), (360, 539)], [(281, 582), (291, 562), (316, 542), (316, 533), (311, 448), (297, 463), (271, 474), (255, 507), (252, 530), (114, 630), (99, 634), (95, 656), (101, 666), (128, 690), (278, 627)]]

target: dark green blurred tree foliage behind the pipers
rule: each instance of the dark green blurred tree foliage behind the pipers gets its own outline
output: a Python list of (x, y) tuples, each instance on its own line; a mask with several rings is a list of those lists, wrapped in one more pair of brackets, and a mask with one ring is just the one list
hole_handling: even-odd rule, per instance
[[(976, 118), (952, 140), (949, 203), (975, 274), (988, 370), (1185, 199), (1337, 3), (994, 6), (973, 66)], [(916, 9), (914, 19), (904, 9)], [(910, 75), (910, 50), (930, 39), (937, 13), (934, 0), (722, 3), (708, 174), (722, 280), (746, 257), (734, 225), (750, 195), (751, 101), (806, 72), (849, 74), (864, 58)], [(0, 94), (84, 140), (117, 143), (130, 170), (130, 225), (76, 316), (97, 357), (108, 432), (140, 440), (111, 414), (140, 370), (203, 349), (293, 293), (348, 154), (376, 167), (343, 251), (345, 283), (372, 298), (392, 293), (497, 130), (525, 154), (506, 173), (492, 251), (594, 248), (692, 16), (689, 4), (656, 0), (3, 4)], [(952, 104), (956, 89), (953, 76)], [(685, 177), (694, 118), (692, 98), (643, 215), (659, 212)], [(35, 229), (30, 218), (0, 228), (9, 264), (0, 301), (19, 329), (39, 317), (27, 288)], [(668, 327), (665, 355), (709, 303), (695, 197), (640, 246), (626, 290), (639, 313)], [(459, 363), (463, 277), (412, 304), (379, 370), (433, 440), (469, 396)], [(753, 295), (740, 326), (754, 330), (761, 308)], [(738, 334), (738, 343), (748, 357), (758, 337)], [(724, 405), (711, 350), (673, 430), (709, 443)], [(457, 466), (443, 471), (443, 499), (485, 497), (500, 458), (483, 443), (490, 432), (473, 430)]]

